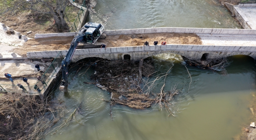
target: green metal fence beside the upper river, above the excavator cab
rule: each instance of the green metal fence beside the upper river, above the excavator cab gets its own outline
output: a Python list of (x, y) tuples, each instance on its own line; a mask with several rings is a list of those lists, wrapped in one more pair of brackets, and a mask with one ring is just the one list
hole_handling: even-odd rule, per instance
[[(81, 6), (86, 8), (86, 2), (85, 1), (86, 0), (84, 0), (83, 4)], [(86, 14), (85, 12), (86, 11), (83, 8), (80, 8), (80, 10), (79, 10), (79, 12), (78, 12), (78, 14), (76, 16), (76, 19), (74, 21), (73, 27), (72, 27), (74, 32), (78, 32), (80, 30), (79, 26), (83, 22), (81, 18), (82, 18), (82, 16), (84, 16), (84, 14)]]

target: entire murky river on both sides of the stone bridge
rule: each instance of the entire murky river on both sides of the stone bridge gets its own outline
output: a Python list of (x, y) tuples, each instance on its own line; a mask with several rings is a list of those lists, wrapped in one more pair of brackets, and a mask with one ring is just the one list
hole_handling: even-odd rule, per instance
[[(88, 21), (103, 23), (106, 30), (150, 27), (239, 28), (231, 14), (210, 0), (97, 0), (95, 14)], [(222, 15), (214, 14), (214, 12)], [(230, 24), (225, 24), (230, 21)], [(256, 99), (256, 66), (249, 56), (231, 56), (228, 74), (212, 72), (182, 64), (180, 56), (153, 56), (158, 73), (172, 70), (166, 77), (166, 88), (178, 85), (181, 92), (171, 101), (175, 115), (168, 116), (165, 108), (153, 104), (145, 110), (110, 105), (110, 93), (92, 84), (90, 68), (86, 74), (77, 68), (69, 74), (68, 94), (56, 91), (55, 99), (63, 102), (68, 118), (81, 104), (76, 120), (47, 140), (233, 140), (244, 124), (252, 121), (250, 106)], [(80, 76), (78, 76), (81, 74)], [(161, 82), (161, 81), (159, 81)], [(161, 83), (155, 88), (159, 91)], [(189, 90), (188, 90), (189, 88)], [(62, 122), (55, 124), (60, 125)]]

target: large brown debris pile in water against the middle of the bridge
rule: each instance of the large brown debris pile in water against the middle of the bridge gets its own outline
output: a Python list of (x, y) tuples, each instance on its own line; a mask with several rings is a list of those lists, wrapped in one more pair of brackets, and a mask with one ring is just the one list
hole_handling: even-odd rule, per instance
[[(149, 76), (154, 72), (154, 67), (150, 61), (144, 61), (142, 66), (142, 76)], [(142, 94), (140, 84), (142, 80), (139, 76), (139, 62), (130, 60), (101, 60), (95, 65), (95, 73), (91, 79), (103, 90), (111, 93), (111, 103), (121, 104), (134, 109), (144, 109), (150, 107), (155, 102), (154, 98)]]

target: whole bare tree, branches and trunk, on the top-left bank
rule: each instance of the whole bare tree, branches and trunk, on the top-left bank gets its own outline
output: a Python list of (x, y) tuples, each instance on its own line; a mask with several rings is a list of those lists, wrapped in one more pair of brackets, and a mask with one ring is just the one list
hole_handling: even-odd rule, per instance
[(0, 14), (16, 14), (19, 11), (32, 10), (34, 12), (52, 14), (54, 26), (58, 32), (68, 32), (69, 27), (64, 20), (64, 12), (68, 0), (7, 0), (0, 7)]

